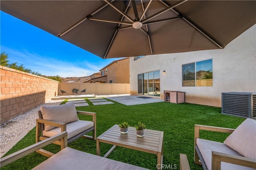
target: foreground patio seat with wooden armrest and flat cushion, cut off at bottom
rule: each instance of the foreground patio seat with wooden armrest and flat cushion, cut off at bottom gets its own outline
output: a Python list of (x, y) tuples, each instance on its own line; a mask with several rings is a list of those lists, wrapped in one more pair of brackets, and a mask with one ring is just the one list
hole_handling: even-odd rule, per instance
[(45, 147), (54, 141), (59, 139), (62, 141), (62, 147), (60, 152), (53, 154), (50, 158), (33, 168), (34, 170), (74, 170), (74, 169), (83, 169), (83, 170), (114, 170), (114, 169), (125, 169), (125, 170), (146, 170), (145, 168), (134, 166), (131, 164), (126, 164), (116, 160), (111, 160), (94, 154), (89, 154), (82, 152), (80, 150), (75, 150), (67, 147), (67, 135), (66, 131), (61, 132), (53, 137), (40, 141), (34, 145), (26, 147), (25, 149), (19, 150), (5, 156), (0, 159), (0, 166), (5, 166), (23, 156), (26, 156), (42, 147)]

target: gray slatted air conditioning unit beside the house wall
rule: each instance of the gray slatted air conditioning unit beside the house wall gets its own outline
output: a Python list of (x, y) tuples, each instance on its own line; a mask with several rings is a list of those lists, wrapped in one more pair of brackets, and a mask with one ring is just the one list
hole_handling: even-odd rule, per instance
[(256, 93), (222, 93), (221, 112), (228, 115), (256, 119)]

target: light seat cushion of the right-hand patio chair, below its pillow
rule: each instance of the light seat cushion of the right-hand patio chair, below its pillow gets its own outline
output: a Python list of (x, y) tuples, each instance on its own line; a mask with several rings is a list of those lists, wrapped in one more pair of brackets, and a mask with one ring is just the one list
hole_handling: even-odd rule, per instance
[[(200, 150), (200, 153), (204, 158), (204, 162), (208, 170), (212, 169), (212, 151), (242, 156), (232, 148), (220, 142), (208, 141), (205, 139), (198, 138), (196, 139), (196, 145), (198, 146), (198, 149)], [(254, 170), (254, 169), (248, 168), (245, 166), (236, 165), (236, 164), (221, 162), (221, 170)]]

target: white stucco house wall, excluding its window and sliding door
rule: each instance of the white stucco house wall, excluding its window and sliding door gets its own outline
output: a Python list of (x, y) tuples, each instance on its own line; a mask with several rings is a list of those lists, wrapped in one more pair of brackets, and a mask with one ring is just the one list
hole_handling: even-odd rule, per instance
[[(207, 59), (212, 59), (213, 86), (182, 87), (182, 64)], [(164, 97), (163, 90), (182, 91), (186, 92), (188, 103), (221, 107), (222, 92), (256, 92), (256, 25), (224, 49), (131, 59), (130, 94), (138, 94), (137, 75), (154, 70), (160, 70), (161, 98)]]

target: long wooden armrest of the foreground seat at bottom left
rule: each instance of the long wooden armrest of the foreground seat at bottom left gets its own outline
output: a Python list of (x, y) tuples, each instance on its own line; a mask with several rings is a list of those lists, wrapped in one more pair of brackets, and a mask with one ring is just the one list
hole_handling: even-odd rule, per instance
[(63, 148), (67, 147), (68, 145), (68, 142), (67, 142), (67, 136), (68, 136), (68, 133), (65, 131), (65, 132), (62, 132), (62, 133), (59, 133), (58, 135), (55, 135), (53, 137), (50, 137), (48, 139), (45, 139), (44, 141), (40, 141), (34, 145), (31, 145), (29, 147), (26, 147), (22, 150), (19, 150), (17, 152), (14, 152), (8, 156), (5, 156), (4, 158), (1, 158), (0, 160), (0, 165), (1, 167), (2, 166), (5, 166), (15, 160), (18, 160), (19, 158), (22, 158), (23, 156), (26, 156), (27, 154), (30, 154), (38, 149), (41, 149), (42, 147), (45, 147), (51, 143), (53, 143), (54, 141), (57, 141), (59, 139), (63, 139)]

